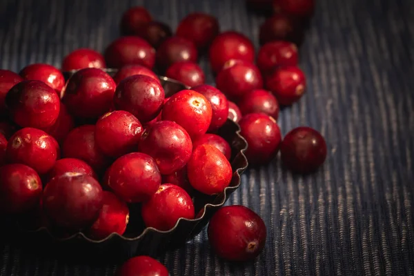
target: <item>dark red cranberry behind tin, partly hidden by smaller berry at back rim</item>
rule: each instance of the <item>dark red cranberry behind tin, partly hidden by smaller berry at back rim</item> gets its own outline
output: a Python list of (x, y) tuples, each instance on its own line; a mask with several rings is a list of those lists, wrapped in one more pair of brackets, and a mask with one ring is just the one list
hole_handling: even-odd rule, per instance
[(169, 37), (157, 50), (157, 66), (162, 71), (179, 61), (197, 63), (197, 58), (195, 44), (184, 37)]

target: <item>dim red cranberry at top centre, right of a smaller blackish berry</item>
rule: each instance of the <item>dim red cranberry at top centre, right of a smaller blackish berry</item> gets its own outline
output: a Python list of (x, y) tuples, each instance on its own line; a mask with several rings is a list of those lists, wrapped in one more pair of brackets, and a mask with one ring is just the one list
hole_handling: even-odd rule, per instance
[(193, 12), (181, 20), (176, 34), (190, 39), (197, 48), (203, 50), (210, 46), (219, 31), (219, 22), (215, 17), (202, 12)]

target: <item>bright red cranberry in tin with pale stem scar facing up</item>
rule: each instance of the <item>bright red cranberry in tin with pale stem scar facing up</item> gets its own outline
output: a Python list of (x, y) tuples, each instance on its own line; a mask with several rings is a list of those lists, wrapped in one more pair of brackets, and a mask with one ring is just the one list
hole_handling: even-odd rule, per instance
[(213, 110), (206, 97), (194, 90), (181, 90), (164, 104), (162, 119), (175, 121), (194, 139), (207, 132), (212, 114)]

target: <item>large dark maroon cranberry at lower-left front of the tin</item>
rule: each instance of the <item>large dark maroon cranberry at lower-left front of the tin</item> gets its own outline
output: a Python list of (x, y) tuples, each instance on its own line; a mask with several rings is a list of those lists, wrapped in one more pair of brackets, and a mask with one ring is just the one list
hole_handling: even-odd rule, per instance
[(81, 230), (99, 216), (103, 191), (99, 182), (90, 175), (66, 172), (46, 184), (42, 201), (46, 215), (53, 224)]

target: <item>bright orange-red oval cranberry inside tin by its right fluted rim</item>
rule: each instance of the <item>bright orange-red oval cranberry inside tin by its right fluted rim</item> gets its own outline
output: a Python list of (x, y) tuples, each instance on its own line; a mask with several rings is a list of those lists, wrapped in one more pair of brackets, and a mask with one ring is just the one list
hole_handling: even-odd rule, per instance
[(230, 163), (215, 146), (201, 144), (193, 150), (187, 164), (191, 186), (206, 195), (222, 193), (233, 175)]

